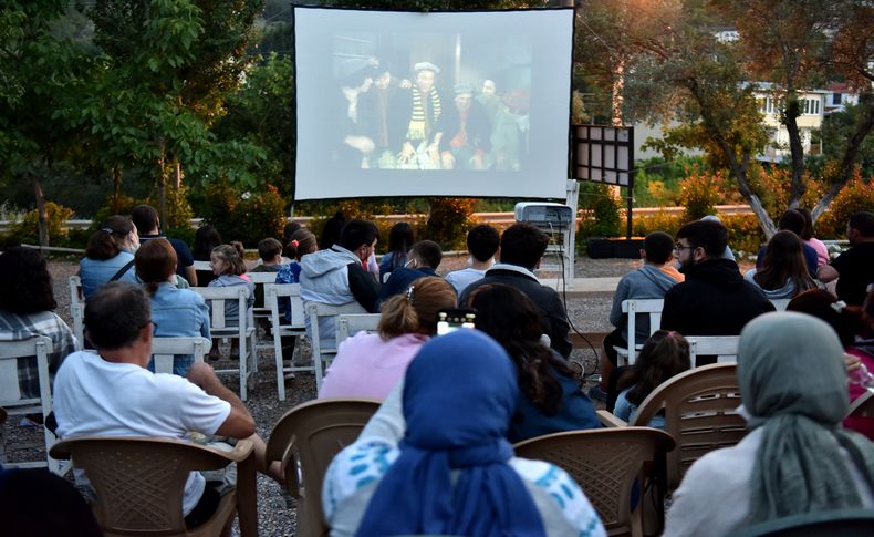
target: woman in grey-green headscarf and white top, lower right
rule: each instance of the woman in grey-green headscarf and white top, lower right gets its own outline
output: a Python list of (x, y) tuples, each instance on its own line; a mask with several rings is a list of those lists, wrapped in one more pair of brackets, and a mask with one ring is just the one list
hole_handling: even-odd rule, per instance
[(843, 348), (825, 322), (767, 313), (740, 334), (750, 432), (696, 462), (674, 494), (666, 536), (720, 536), (776, 518), (874, 507), (874, 444), (841, 427)]

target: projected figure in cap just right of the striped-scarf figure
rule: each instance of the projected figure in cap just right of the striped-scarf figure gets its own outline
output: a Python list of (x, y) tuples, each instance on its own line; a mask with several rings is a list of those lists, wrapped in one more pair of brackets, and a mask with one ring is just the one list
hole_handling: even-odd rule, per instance
[(434, 143), (443, 169), (485, 169), (491, 126), (486, 109), (474, 100), (474, 85), (456, 84), (455, 106), (440, 115)]

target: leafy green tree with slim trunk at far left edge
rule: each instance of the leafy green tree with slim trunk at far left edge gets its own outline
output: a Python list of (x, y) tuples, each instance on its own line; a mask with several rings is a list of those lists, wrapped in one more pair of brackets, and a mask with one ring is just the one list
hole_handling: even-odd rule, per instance
[(0, 9), (0, 175), (33, 186), (40, 245), (49, 245), (49, 216), (40, 169), (51, 167), (71, 133), (55, 117), (73, 103), (86, 63), (73, 43), (53, 33), (66, 2), (7, 2)]

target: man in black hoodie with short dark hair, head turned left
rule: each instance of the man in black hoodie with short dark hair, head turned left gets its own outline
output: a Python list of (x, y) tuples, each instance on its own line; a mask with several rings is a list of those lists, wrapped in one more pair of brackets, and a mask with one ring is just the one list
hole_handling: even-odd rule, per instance
[(665, 293), (662, 330), (738, 335), (747, 322), (774, 310), (761, 289), (743, 280), (738, 264), (722, 257), (727, 244), (728, 229), (718, 221), (693, 221), (677, 231), (675, 255), (686, 281)]

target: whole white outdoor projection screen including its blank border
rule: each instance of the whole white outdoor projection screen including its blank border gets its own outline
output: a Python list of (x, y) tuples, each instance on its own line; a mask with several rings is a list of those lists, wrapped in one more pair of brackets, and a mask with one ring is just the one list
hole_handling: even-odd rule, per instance
[(294, 7), (295, 199), (565, 197), (573, 10)]

